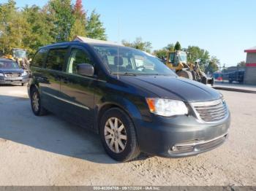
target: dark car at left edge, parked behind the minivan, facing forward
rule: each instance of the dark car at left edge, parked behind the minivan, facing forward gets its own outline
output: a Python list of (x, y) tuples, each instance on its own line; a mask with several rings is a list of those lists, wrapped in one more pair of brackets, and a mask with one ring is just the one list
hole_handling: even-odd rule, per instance
[(21, 84), (29, 82), (29, 73), (20, 69), (18, 63), (0, 58), (0, 85)]

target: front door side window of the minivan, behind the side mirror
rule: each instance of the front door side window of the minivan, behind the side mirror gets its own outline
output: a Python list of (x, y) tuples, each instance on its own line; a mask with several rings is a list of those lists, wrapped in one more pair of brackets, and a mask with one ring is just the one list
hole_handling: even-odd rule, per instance
[(67, 66), (67, 72), (70, 74), (78, 74), (78, 64), (89, 63), (92, 65), (89, 55), (80, 49), (72, 49)]

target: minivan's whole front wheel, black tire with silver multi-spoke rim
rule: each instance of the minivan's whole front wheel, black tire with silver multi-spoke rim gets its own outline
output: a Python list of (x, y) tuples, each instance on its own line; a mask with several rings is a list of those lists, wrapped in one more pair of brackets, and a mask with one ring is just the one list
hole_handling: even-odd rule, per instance
[(105, 152), (114, 160), (126, 162), (140, 155), (135, 126), (121, 109), (109, 109), (103, 114), (99, 133)]

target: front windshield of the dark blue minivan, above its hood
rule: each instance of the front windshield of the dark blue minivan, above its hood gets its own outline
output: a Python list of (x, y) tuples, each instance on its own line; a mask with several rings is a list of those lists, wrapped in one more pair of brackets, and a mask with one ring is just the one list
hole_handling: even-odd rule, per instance
[(111, 74), (176, 76), (164, 63), (140, 50), (127, 47), (94, 45)]

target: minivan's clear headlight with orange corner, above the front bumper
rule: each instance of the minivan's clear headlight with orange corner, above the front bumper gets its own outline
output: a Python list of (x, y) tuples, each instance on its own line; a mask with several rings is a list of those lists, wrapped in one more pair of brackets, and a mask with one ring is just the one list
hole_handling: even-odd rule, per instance
[(187, 114), (188, 109), (183, 101), (165, 98), (146, 98), (151, 113), (164, 117)]

